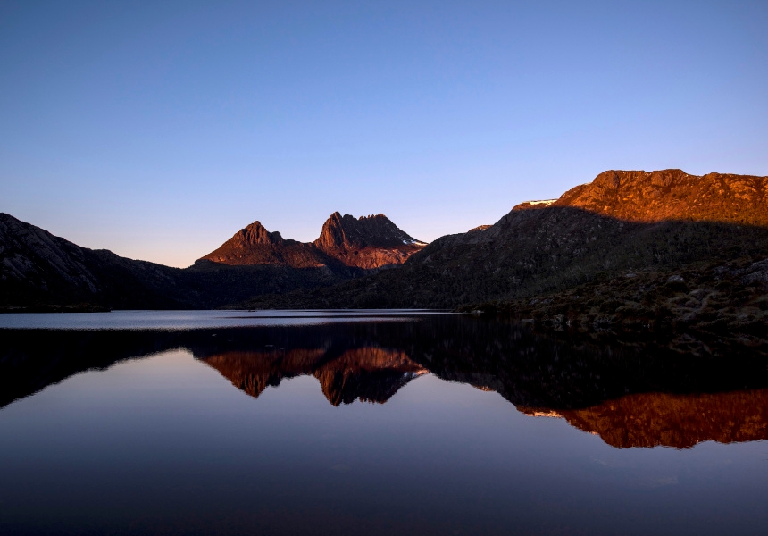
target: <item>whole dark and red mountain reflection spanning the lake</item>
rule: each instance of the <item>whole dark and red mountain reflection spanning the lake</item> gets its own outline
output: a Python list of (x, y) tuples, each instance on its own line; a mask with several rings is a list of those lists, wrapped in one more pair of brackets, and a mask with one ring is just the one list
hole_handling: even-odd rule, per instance
[(768, 373), (759, 356), (703, 358), (553, 339), (498, 320), (3, 335), (3, 406), (84, 370), (188, 348), (254, 398), (283, 379), (312, 375), (333, 406), (383, 404), (432, 373), (497, 391), (527, 415), (562, 417), (615, 448), (768, 439)]

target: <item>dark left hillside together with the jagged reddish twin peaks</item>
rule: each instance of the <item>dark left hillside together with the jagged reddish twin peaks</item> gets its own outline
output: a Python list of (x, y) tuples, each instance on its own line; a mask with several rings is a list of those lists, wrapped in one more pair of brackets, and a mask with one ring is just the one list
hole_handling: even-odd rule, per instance
[(0, 307), (28, 310), (199, 309), (314, 289), (400, 264), (424, 244), (386, 216), (332, 214), (314, 243), (259, 222), (187, 269), (79, 247), (0, 214)]

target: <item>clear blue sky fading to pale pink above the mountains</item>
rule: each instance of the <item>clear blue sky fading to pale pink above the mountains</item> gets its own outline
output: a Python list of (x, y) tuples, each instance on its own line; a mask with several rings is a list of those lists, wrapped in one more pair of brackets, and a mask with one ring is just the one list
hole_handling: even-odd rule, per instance
[(609, 169), (768, 175), (768, 2), (0, 0), (0, 212), (188, 266), (430, 241)]

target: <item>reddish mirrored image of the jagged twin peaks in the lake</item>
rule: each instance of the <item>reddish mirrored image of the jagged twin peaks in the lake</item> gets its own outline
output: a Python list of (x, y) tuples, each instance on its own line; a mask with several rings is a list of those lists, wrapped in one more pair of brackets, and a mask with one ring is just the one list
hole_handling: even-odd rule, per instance
[(383, 404), (408, 381), (427, 373), (404, 352), (377, 347), (351, 348), (340, 355), (325, 348), (226, 352), (204, 361), (254, 398), (283, 379), (313, 375), (333, 406), (355, 400)]

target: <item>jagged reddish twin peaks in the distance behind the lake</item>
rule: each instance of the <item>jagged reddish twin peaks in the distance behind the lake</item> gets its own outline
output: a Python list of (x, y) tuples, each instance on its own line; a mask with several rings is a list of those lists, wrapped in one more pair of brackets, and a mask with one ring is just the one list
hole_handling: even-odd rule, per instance
[(253, 222), (218, 249), (198, 260), (228, 266), (271, 265), (291, 268), (345, 268), (373, 270), (403, 264), (426, 246), (400, 230), (384, 214), (361, 216), (331, 214), (320, 237), (305, 243), (283, 239), (280, 232)]

